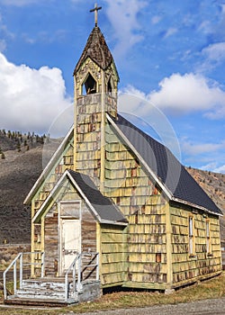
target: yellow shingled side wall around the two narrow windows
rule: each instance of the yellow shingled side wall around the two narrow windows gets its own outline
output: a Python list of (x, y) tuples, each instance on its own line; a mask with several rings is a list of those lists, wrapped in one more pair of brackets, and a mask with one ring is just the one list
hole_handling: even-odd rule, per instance
[[(183, 207), (184, 208), (184, 207)], [(217, 216), (170, 207), (173, 283), (181, 285), (220, 272), (220, 225)], [(193, 217), (193, 254), (189, 250), (189, 217)], [(206, 249), (206, 221), (210, 222), (211, 251)]]

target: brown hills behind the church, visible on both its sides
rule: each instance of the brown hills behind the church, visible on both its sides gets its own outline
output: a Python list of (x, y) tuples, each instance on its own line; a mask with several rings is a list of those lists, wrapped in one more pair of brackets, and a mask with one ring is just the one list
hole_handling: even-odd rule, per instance
[[(0, 130), (0, 243), (4, 239), (10, 243), (30, 241), (31, 210), (23, 200), (43, 169), (43, 156), (48, 160), (58, 144), (59, 139)], [(225, 214), (225, 175), (191, 167), (187, 171)], [(225, 240), (225, 218), (220, 219), (220, 230)]]

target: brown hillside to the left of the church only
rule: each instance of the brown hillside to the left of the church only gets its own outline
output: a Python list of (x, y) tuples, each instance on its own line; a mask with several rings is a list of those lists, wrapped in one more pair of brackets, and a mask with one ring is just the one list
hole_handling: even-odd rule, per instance
[[(29, 242), (31, 236), (31, 209), (23, 205), (27, 193), (42, 171), (43, 147), (49, 156), (58, 141), (49, 140), (46, 145), (40, 138), (8, 137), (0, 132), (0, 243)], [(25, 144), (25, 145), (24, 145)]]

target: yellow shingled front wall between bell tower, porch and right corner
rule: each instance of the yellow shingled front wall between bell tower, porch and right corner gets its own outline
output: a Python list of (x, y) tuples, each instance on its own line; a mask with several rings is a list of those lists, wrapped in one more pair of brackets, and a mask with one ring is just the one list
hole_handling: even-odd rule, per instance
[(166, 199), (129, 149), (106, 127), (104, 193), (129, 220), (124, 232), (124, 286), (164, 288)]

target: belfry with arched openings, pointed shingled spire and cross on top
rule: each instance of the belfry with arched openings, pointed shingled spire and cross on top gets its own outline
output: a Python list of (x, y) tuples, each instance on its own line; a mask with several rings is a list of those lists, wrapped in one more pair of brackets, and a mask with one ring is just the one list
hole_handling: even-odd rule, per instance
[[(117, 98), (118, 72), (112, 53), (97, 25), (97, 12), (101, 8), (95, 4), (94, 9), (91, 10), (95, 14), (95, 26), (74, 70), (76, 99), (85, 94), (110, 94)], [(106, 104), (103, 107), (104, 112), (110, 111), (116, 116), (116, 108), (114, 108), (115, 112), (112, 112)]]

